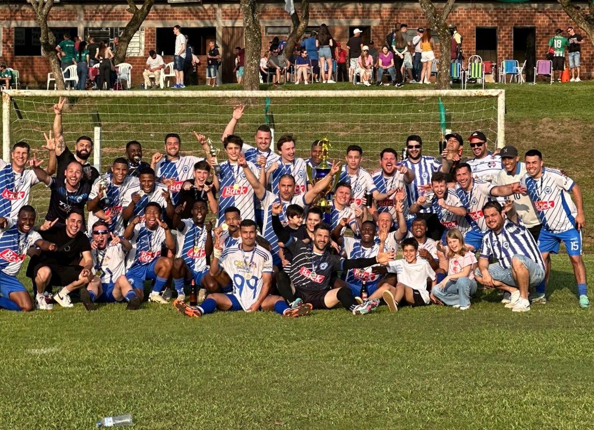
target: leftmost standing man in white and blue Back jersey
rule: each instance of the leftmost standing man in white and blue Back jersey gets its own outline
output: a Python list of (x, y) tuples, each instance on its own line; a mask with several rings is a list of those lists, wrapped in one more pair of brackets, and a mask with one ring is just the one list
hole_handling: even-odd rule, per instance
[(11, 163), (0, 160), (0, 216), (16, 219), (18, 211), (29, 201), (31, 186), (39, 179), (33, 170), (25, 170), (31, 148), (17, 142), (10, 151)]

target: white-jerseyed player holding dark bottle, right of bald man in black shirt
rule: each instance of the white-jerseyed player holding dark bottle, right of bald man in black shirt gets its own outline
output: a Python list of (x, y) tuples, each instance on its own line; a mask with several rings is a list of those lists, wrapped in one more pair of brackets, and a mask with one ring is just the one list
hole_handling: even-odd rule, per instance
[(124, 232), (122, 210), (128, 207), (126, 196), (138, 192), (138, 178), (128, 176), (128, 163), (123, 157), (113, 160), (111, 173), (106, 173), (93, 183), (87, 202), (89, 225), (103, 219), (109, 225), (109, 231), (115, 235)]

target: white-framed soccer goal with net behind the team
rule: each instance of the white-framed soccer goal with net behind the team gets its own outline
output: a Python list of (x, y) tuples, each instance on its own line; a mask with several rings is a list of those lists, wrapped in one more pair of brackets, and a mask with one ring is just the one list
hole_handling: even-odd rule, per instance
[[(296, 156), (309, 157), (312, 141), (328, 137), (330, 158), (344, 159), (349, 145), (364, 150), (364, 167), (375, 169), (379, 153), (405, 147), (406, 137), (418, 134), (423, 153), (438, 156), (443, 129), (470, 135), (481, 130), (491, 148), (504, 144), (504, 90), (340, 90), (340, 91), (39, 91), (10, 90), (3, 98), (3, 158), (10, 147), (26, 141), (40, 159), (43, 132), (52, 129), (54, 103), (68, 97), (62, 116), (64, 137), (71, 150), (81, 135), (93, 138), (90, 162), (105, 172), (128, 141), (143, 146), (150, 162), (163, 151), (169, 132), (181, 136), (183, 154), (203, 156), (193, 132), (206, 135), (222, 148), (220, 138), (233, 112), (245, 105), (235, 134), (254, 146), (262, 124), (274, 129), (274, 141), (283, 134), (296, 140)], [(274, 145), (274, 142), (273, 142)], [(219, 158), (221, 158), (219, 156)], [(223, 156), (224, 158), (224, 156)], [(33, 203), (40, 216), (48, 208), (49, 192), (36, 186)]]

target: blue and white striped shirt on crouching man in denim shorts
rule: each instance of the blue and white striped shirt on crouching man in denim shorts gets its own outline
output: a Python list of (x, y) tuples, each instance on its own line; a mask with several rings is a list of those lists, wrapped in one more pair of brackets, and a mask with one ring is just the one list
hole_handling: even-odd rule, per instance
[(501, 267), (508, 269), (511, 268), (511, 258), (516, 254), (530, 258), (544, 270), (541, 252), (525, 226), (505, 219), (499, 233), (488, 230), (483, 236), (481, 257), (494, 258)]

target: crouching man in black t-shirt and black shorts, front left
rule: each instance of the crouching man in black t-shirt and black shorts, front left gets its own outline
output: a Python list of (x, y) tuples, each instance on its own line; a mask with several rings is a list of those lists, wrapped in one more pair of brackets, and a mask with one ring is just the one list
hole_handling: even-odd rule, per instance
[[(63, 286), (53, 299), (65, 308), (71, 308), (68, 294), (93, 280), (93, 257), (89, 238), (83, 233), (83, 211), (74, 208), (66, 217), (66, 227), (56, 227), (58, 219), (46, 221), (39, 234), (48, 242), (56, 244), (56, 251), (42, 251), (31, 257), (27, 276), (37, 286), (36, 299), (43, 296), (49, 284)], [(40, 293), (41, 292), (41, 293)]]

